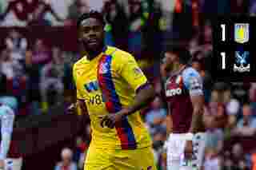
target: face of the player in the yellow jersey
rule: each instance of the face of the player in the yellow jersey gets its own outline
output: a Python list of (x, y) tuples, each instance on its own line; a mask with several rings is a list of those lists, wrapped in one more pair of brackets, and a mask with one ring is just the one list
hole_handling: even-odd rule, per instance
[(88, 51), (102, 49), (104, 42), (104, 30), (102, 23), (95, 18), (88, 18), (82, 21), (79, 28), (79, 40)]

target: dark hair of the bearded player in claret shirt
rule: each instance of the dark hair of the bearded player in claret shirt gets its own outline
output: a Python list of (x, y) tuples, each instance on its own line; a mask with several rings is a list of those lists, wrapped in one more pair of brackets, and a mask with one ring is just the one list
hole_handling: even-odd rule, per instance
[(166, 53), (174, 53), (178, 56), (178, 60), (181, 64), (187, 65), (189, 64), (192, 56), (190, 51), (184, 45), (178, 44), (170, 44), (166, 45)]

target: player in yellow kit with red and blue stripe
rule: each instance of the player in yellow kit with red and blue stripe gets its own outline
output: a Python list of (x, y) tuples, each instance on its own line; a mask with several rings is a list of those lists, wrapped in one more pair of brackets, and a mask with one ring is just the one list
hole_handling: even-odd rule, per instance
[(104, 25), (96, 11), (78, 19), (86, 55), (73, 68), (76, 105), (89, 114), (92, 129), (85, 169), (156, 170), (139, 112), (154, 99), (154, 88), (130, 53), (104, 45)]

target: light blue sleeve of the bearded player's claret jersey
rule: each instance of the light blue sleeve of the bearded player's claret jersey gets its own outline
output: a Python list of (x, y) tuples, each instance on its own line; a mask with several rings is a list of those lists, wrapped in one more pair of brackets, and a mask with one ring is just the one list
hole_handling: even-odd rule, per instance
[(203, 95), (202, 77), (195, 69), (188, 69), (183, 73), (183, 80), (190, 96)]

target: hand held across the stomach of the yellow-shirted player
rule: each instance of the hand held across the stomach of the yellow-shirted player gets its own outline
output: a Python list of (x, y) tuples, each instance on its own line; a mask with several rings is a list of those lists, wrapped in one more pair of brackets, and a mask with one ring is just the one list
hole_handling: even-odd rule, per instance
[(102, 118), (101, 125), (102, 127), (106, 126), (108, 128), (114, 128), (118, 122), (122, 121), (126, 117), (126, 111), (122, 109), (118, 113), (110, 113)]

